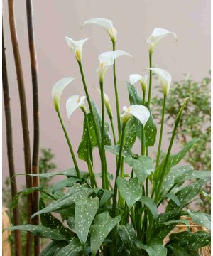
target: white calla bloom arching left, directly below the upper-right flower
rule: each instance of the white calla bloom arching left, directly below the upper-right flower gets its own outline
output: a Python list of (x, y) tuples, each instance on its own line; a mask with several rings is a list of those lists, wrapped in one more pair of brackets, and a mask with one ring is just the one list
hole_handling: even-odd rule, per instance
[(170, 73), (168, 73), (166, 70), (163, 70), (162, 68), (148, 68), (148, 70), (152, 70), (158, 76), (162, 86), (163, 95), (167, 96), (172, 81)]

